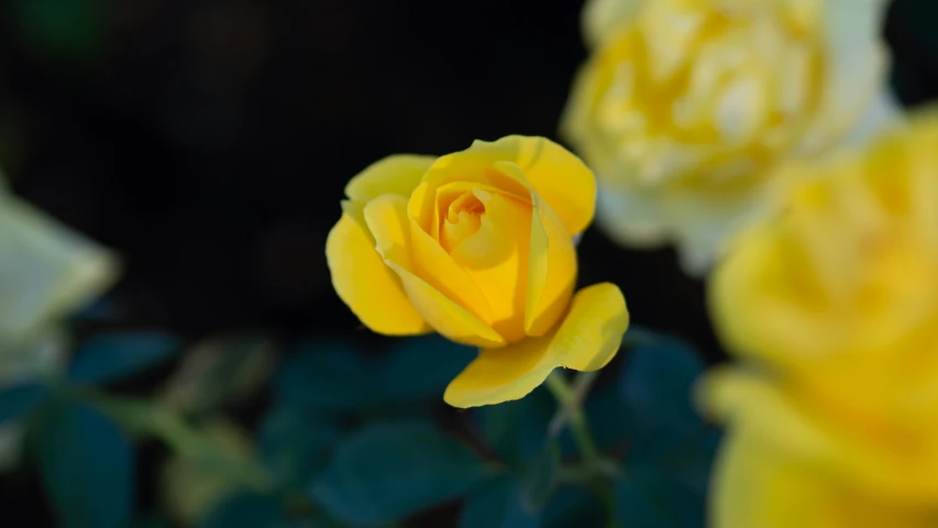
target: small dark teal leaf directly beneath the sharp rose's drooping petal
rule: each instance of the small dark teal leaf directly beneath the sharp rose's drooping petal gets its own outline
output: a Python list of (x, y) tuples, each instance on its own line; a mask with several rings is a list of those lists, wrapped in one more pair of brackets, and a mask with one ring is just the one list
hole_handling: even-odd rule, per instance
[(503, 460), (518, 468), (543, 449), (555, 411), (556, 404), (542, 387), (521, 399), (475, 410), (486, 443)]

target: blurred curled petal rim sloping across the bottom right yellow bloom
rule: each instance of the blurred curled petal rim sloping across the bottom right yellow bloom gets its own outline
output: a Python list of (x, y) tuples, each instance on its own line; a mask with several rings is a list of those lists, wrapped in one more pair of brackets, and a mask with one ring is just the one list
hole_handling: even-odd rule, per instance
[[(853, 411), (848, 400), (838, 404), (827, 398), (820, 405), (821, 400), (814, 397), (817, 392), (797, 391), (799, 387), (721, 369), (707, 374), (696, 392), (698, 406), (729, 424), (735, 435), (751, 436), (773, 452), (797, 457), (816, 474), (832, 475), (875, 496), (905, 504), (934, 502), (938, 493), (938, 449), (930, 440), (934, 433), (924, 428), (897, 431), (867, 415), (841, 421)], [(896, 438), (919, 446), (915, 455), (895, 449)]]

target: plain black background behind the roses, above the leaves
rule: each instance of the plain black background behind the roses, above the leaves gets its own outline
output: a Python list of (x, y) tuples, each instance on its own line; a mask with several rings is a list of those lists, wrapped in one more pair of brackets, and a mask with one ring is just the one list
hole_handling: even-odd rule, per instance
[[(906, 105), (938, 94), (936, 3), (891, 9)], [(585, 57), (580, 1), (0, 4), (0, 164), (13, 188), (122, 255), (108, 297), (119, 324), (191, 339), (372, 339), (323, 255), (349, 178), (391, 153), (556, 138)], [(618, 284), (633, 322), (719, 360), (703, 285), (671, 250), (626, 251), (591, 230), (581, 270), (583, 284)], [(33, 492), (0, 504), (43, 501)]]

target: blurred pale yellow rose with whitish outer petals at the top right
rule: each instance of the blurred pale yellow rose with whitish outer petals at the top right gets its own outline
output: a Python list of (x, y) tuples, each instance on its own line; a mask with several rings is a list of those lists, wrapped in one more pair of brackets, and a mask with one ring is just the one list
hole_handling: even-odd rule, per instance
[(772, 166), (895, 119), (883, 0), (591, 0), (591, 57), (562, 123), (626, 245), (691, 273), (761, 209)]

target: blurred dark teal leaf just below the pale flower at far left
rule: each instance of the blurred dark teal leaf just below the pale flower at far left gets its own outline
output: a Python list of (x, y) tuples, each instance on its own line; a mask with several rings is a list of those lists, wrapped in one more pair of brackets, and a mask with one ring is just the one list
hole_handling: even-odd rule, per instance
[(178, 354), (179, 338), (163, 332), (114, 332), (78, 345), (68, 377), (76, 383), (110, 383), (132, 376)]

